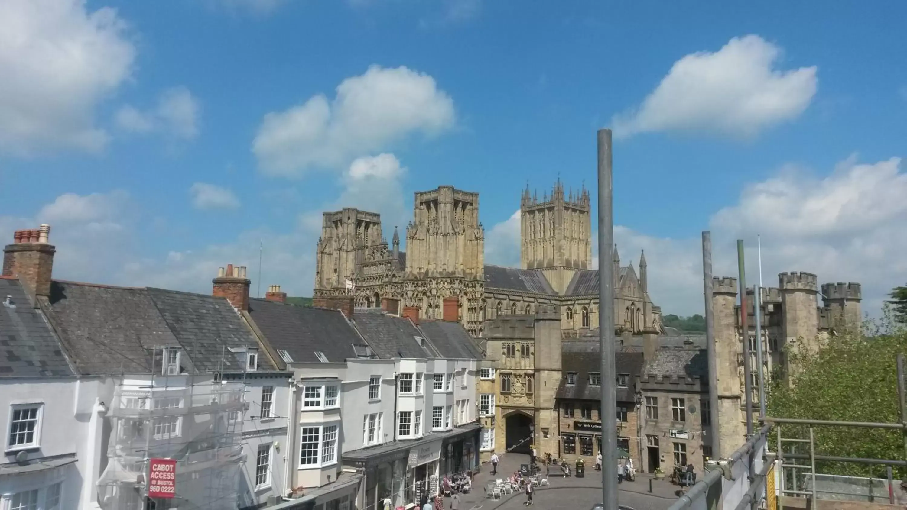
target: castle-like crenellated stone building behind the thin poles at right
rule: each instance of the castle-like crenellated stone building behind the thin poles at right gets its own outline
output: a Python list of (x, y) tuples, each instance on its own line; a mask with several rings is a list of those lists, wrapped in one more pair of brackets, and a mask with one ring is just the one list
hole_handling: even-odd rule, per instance
[[(821, 289), (821, 290), (820, 290)], [(746, 405), (743, 334), (737, 279), (716, 277), (713, 282), (715, 341), (718, 380), (718, 416), (721, 456), (727, 457), (746, 441)], [(862, 322), (860, 284), (818, 285), (812, 273), (778, 274), (778, 286), (761, 291), (762, 346), (766, 379), (790, 372), (788, 354), (801, 349), (816, 351), (823, 342)], [(820, 306), (818, 297), (822, 296)], [(747, 341), (752, 368), (753, 405), (758, 409), (756, 315), (754, 293), (746, 293)]]

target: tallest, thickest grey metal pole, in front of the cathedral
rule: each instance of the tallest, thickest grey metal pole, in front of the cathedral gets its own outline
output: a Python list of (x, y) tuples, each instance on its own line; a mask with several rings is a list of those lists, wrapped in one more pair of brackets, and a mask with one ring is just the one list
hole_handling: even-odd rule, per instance
[(614, 352), (614, 217), (611, 130), (599, 130), (599, 342), (601, 350), (601, 504), (618, 510), (617, 369)]

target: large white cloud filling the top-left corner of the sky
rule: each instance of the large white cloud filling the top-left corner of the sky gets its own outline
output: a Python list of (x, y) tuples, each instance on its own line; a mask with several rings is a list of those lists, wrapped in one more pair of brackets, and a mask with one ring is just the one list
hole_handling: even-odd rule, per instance
[(84, 0), (0, 2), (0, 153), (103, 149), (94, 109), (130, 76), (125, 32), (115, 10)]

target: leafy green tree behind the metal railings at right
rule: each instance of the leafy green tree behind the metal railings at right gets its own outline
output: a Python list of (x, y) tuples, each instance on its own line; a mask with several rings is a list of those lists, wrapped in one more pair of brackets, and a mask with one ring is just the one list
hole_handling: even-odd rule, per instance
[[(867, 323), (868, 331), (835, 337), (818, 353), (790, 352), (790, 384), (775, 379), (767, 412), (776, 418), (899, 423), (898, 353), (907, 353), (907, 332), (891, 321)], [(776, 426), (777, 427), (777, 426)], [(809, 428), (781, 425), (784, 438), (809, 438)], [(773, 440), (775, 438), (773, 431)], [(903, 459), (902, 432), (882, 428), (814, 427), (815, 453), (836, 457)], [(790, 452), (792, 444), (785, 443)], [(808, 454), (808, 444), (795, 445)], [(847, 476), (882, 476), (883, 466), (817, 462), (817, 472)], [(896, 468), (898, 477), (907, 475)]]

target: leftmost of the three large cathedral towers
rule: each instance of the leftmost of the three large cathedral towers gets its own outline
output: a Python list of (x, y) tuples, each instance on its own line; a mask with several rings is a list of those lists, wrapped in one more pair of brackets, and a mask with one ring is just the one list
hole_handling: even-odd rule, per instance
[(315, 262), (315, 288), (344, 288), (358, 273), (369, 246), (385, 242), (381, 215), (354, 207), (324, 213)]

